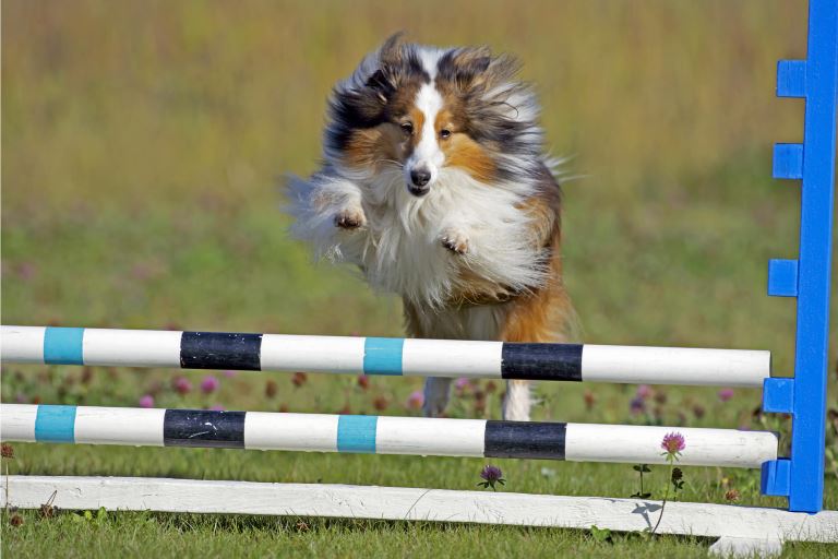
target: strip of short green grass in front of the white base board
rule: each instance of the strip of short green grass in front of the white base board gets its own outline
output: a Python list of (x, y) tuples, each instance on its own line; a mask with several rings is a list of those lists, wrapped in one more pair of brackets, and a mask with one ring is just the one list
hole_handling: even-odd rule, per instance
[[(543, 528), (151, 513), (108, 515), (101, 523), (62, 516), (50, 521), (55, 530), (45, 534), (35, 514), (26, 516), (15, 533), (20, 542), (15, 550), (36, 555), (50, 549), (59, 556), (70, 549), (79, 556), (109, 556), (119, 549), (123, 557), (522, 557), (526, 552), (607, 558), (619, 549), (620, 557), (627, 558), (703, 558), (708, 545), (694, 537), (649, 542), (616, 534), (613, 543), (598, 543), (583, 532)], [(828, 558), (833, 551), (827, 545), (791, 544), (786, 555)]]

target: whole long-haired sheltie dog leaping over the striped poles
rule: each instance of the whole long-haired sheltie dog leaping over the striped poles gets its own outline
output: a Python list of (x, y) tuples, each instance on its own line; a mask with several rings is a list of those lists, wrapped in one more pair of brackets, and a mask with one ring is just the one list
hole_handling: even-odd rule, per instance
[[(517, 71), (486, 47), (395, 35), (335, 86), (323, 166), (289, 182), (292, 235), (400, 296), (409, 336), (566, 341), (561, 190)], [(427, 380), (426, 415), (450, 384)], [(528, 381), (507, 381), (503, 417), (529, 412)]]

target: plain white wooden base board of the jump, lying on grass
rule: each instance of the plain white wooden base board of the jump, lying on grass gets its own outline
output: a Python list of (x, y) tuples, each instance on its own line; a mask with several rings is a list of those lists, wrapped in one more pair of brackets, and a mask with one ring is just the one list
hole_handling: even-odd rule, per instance
[[(660, 501), (327, 484), (144, 477), (9, 476), (2, 501), (38, 509), (158, 511), (394, 521), (464, 522), (618, 532), (651, 528)], [(667, 503), (659, 534), (720, 538), (713, 551), (779, 551), (783, 542), (838, 543), (838, 511)]]

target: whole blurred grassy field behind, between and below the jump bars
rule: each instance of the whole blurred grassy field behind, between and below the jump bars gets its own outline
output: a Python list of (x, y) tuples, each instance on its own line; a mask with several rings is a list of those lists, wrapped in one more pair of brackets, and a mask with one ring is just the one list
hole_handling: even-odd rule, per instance
[[(799, 141), (802, 104), (774, 97), (805, 56), (805, 2), (237, 2), (2, 4), (2, 322), (400, 335), (398, 302), (314, 265), (286, 234), (280, 177), (319, 155), (330, 86), (396, 29), (516, 52), (541, 93), (565, 186), (568, 289), (590, 343), (769, 348), (793, 364), (794, 304), (765, 295), (797, 253), (798, 185), (770, 146)], [(835, 299), (834, 299), (835, 301)], [(833, 310), (835, 311), (835, 302)], [(835, 316), (835, 314), (834, 314)], [(830, 346), (829, 406), (838, 329)], [(192, 384), (182, 394), (172, 379)], [(7, 367), (3, 402), (417, 414), (418, 379)], [(538, 386), (537, 419), (770, 428), (756, 391)], [(502, 386), (466, 388), (453, 417), (498, 417)], [(829, 426), (835, 452), (836, 429)], [(783, 437), (783, 443), (786, 443)], [(484, 461), (15, 444), (10, 473), (147, 475), (475, 489)], [(833, 454), (835, 456), (835, 454)], [(632, 465), (492, 461), (503, 490), (627, 497)], [(827, 508), (838, 508), (830, 462)], [(758, 473), (685, 468), (679, 498), (781, 506)], [(665, 469), (654, 468), (660, 497)], [(699, 538), (448, 524), (73, 513), (2, 516), (9, 557), (703, 557)], [(789, 557), (835, 546), (790, 545)]]

